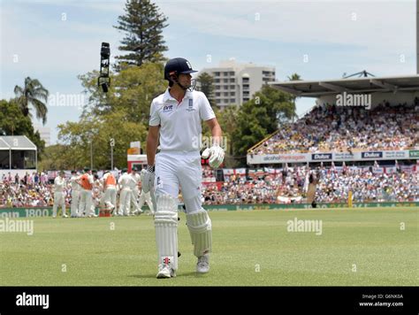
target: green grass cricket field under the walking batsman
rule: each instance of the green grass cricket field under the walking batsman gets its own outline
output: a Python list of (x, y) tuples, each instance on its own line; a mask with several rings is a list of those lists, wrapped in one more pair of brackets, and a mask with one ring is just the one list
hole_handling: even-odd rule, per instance
[[(197, 275), (181, 213), (178, 276), (162, 280), (155, 278), (150, 216), (35, 218), (33, 235), (0, 233), (0, 285), (417, 286), (418, 214), (418, 208), (210, 212), (211, 270)], [(294, 218), (322, 220), (323, 234), (287, 232)]]

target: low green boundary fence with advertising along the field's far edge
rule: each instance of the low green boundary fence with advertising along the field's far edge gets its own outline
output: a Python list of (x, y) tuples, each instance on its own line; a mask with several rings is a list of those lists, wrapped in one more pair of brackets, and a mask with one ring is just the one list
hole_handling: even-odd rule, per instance
[[(375, 207), (393, 207), (406, 208), (417, 207), (419, 202), (406, 203), (363, 203), (353, 204), (353, 208), (375, 208)], [(347, 204), (317, 204), (316, 209), (336, 209), (347, 207)], [(312, 209), (311, 204), (217, 204), (205, 205), (204, 208), (208, 211), (252, 211), (252, 210), (292, 210), (292, 209)], [(145, 207), (145, 210), (148, 210)], [(95, 212), (98, 213), (96, 208)], [(182, 207), (179, 206), (179, 211)], [(61, 215), (61, 211), (58, 212)], [(67, 209), (67, 215), (70, 215), (70, 209)], [(1, 218), (30, 218), (30, 217), (50, 217), (52, 216), (52, 207), (39, 208), (0, 208)]]

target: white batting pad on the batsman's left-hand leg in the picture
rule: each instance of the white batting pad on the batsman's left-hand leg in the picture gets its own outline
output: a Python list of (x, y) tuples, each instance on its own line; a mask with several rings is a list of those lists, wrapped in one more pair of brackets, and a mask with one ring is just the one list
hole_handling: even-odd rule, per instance
[(178, 203), (174, 197), (158, 196), (154, 224), (158, 264), (178, 270)]

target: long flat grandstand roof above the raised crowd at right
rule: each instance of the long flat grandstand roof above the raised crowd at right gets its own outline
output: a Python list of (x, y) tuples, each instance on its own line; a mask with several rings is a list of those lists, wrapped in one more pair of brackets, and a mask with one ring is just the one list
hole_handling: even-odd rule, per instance
[(326, 81), (268, 82), (271, 86), (295, 96), (319, 97), (338, 93), (373, 93), (419, 91), (419, 75), (369, 77)]

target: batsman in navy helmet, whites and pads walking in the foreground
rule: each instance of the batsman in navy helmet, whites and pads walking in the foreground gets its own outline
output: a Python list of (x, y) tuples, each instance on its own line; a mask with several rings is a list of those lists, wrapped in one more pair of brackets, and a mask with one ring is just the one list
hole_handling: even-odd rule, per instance
[[(150, 107), (147, 138), (147, 172), (142, 173), (142, 188), (156, 196), (157, 278), (176, 276), (178, 269), (178, 195), (179, 186), (187, 212), (187, 227), (198, 257), (197, 273), (209, 272), (212, 246), (211, 220), (202, 208), (202, 167), (200, 156), (201, 121), (209, 125), (213, 142), (202, 157), (218, 167), (224, 159), (221, 127), (207, 97), (194, 91), (195, 73), (184, 58), (173, 58), (164, 66), (164, 79), (169, 88), (157, 96)], [(156, 155), (157, 142), (161, 151)], [(155, 175), (156, 171), (156, 175)]]

